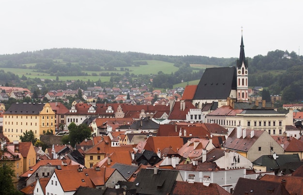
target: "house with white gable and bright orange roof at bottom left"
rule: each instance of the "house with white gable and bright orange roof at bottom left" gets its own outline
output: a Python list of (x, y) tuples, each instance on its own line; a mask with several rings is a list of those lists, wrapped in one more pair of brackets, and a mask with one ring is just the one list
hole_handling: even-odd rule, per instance
[(118, 181), (125, 181), (125, 179), (113, 168), (56, 169), (46, 184), (45, 194), (71, 195), (80, 186), (105, 190), (106, 187), (114, 187)]

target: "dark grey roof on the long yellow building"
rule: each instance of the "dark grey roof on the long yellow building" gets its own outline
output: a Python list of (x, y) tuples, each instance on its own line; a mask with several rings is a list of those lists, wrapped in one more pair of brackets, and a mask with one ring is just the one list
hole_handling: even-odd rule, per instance
[(12, 104), (5, 114), (39, 114), (44, 104)]

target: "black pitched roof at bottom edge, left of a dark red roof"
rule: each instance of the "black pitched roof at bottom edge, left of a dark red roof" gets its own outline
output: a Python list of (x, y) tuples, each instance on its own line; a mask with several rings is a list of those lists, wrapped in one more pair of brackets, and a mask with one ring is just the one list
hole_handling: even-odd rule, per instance
[(158, 170), (154, 174), (153, 169), (141, 169), (134, 182), (136, 194), (144, 195), (168, 195), (179, 174), (175, 170)]

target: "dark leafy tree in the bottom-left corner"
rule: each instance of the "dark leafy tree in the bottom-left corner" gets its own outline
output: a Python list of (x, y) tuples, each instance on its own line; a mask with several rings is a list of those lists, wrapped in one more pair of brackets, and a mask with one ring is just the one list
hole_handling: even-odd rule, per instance
[[(3, 151), (1, 150), (1, 153)], [(2, 155), (1, 155), (2, 156)], [(15, 171), (7, 161), (0, 161), (0, 195), (21, 195), (15, 189), (13, 178)]]

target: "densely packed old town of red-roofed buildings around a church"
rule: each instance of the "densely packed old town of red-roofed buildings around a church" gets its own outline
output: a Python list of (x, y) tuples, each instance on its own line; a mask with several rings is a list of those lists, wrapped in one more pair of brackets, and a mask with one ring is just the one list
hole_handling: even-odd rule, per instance
[[(281, 97), (257, 97), (248, 70), (242, 38), (234, 66), (207, 68), (185, 89), (118, 83), (0, 103), (0, 163), (12, 164), (25, 195), (303, 195), (303, 105), (278, 113)], [(0, 100), (33, 95), (0, 90)], [(68, 97), (78, 97), (70, 108)], [(63, 144), (71, 124), (87, 125), (90, 137)], [(30, 130), (48, 147), (21, 142)]]

